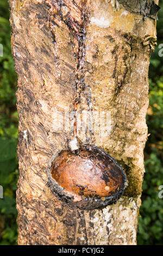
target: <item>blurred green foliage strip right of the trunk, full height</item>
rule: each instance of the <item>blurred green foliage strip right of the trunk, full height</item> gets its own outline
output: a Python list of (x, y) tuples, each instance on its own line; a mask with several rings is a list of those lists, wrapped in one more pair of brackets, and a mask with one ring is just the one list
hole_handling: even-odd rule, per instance
[(157, 22), (158, 45), (152, 53), (149, 68), (149, 108), (147, 112), (148, 141), (145, 148), (146, 174), (143, 181), (140, 208), (139, 245), (163, 245), (163, 198), (159, 186), (163, 185), (163, 57), (159, 45), (163, 43), (163, 1)]

